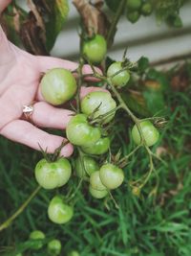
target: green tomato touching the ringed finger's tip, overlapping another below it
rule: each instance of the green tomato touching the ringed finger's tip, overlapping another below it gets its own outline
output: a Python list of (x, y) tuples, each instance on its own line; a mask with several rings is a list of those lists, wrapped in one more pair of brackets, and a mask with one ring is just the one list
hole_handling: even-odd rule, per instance
[(87, 146), (100, 139), (100, 128), (90, 126), (87, 118), (84, 114), (77, 114), (72, 117), (66, 128), (67, 138), (74, 145)]

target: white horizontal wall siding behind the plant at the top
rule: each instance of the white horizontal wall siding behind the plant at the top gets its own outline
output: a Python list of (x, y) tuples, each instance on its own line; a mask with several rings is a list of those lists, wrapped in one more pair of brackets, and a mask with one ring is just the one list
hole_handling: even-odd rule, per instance
[[(157, 26), (155, 16), (141, 17), (136, 24), (121, 18), (115, 45), (109, 53), (112, 58), (120, 59), (125, 47), (132, 61), (146, 56), (152, 61), (191, 53), (191, 3), (180, 11), (182, 29), (168, 28), (165, 24)], [(61, 34), (53, 47), (52, 55), (75, 59), (78, 53), (78, 13), (70, 1), (70, 14)], [(142, 41), (142, 42), (141, 42)]]

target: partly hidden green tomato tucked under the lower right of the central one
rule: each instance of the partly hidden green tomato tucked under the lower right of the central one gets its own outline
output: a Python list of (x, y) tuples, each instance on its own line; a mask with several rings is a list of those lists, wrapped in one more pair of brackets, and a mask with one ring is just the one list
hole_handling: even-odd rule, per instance
[(103, 154), (110, 148), (110, 139), (108, 137), (100, 138), (95, 144), (81, 147), (82, 151), (90, 154)]

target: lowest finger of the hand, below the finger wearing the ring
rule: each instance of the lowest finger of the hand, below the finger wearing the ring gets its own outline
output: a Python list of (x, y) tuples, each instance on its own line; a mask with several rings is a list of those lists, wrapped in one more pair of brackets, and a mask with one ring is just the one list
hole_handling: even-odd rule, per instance
[[(66, 141), (65, 138), (34, 127), (31, 123), (23, 120), (14, 120), (1, 129), (0, 134), (12, 141), (24, 144), (30, 148), (40, 151), (40, 147), (47, 152), (53, 153)], [(40, 145), (40, 146), (39, 146)], [(61, 150), (63, 156), (70, 156), (74, 151), (72, 144), (67, 144)]]

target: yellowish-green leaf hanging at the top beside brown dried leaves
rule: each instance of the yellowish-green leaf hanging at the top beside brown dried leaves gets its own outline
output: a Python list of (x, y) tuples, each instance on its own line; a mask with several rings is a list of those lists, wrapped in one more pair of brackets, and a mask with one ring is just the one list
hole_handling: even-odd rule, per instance
[(51, 12), (48, 15), (46, 22), (46, 48), (48, 52), (53, 48), (56, 36), (62, 30), (62, 27), (69, 13), (68, 0), (46, 1)]

